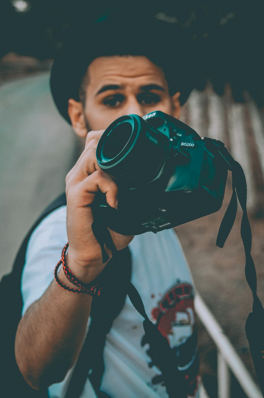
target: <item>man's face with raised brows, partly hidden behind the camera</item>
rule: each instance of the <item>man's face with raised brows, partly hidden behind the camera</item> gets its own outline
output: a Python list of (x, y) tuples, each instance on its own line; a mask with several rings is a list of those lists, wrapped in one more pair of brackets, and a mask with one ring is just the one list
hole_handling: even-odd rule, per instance
[(159, 110), (179, 117), (180, 93), (169, 95), (164, 72), (146, 57), (96, 58), (89, 65), (85, 80), (84, 107), (69, 100), (69, 115), (78, 135), (106, 129), (115, 119), (130, 113), (143, 116)]

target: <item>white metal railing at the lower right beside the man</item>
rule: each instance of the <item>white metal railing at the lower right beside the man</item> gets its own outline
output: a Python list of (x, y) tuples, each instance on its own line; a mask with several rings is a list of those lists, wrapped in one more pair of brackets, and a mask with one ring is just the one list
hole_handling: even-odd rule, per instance
[[(230, 395), (230, 371), (234, 374), (249, 398), (263, 398), (263, 395), (247, 371), (245, 365), (237, 355), (233, 345), (225, 336), (224, 331), (218, 324), (209, 308), (206, 306), (199, 294), (195, 296), (196, 313), (207, 330), (208, 334), (217, 347), (217, 378), (218, 398), (231, 398)], [(202, 386), (201, 398), (207, 398)]]

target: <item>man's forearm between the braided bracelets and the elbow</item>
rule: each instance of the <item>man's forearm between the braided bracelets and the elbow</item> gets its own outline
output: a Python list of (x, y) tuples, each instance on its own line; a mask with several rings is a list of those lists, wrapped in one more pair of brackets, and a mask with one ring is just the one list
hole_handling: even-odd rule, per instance
[[(60, 280), (69, 285), (63, 271)], [(36, 389), (62, 381), (81, 350), (92, 298), (52, 281), (21, 319), (15, 357), (25, 380)]]

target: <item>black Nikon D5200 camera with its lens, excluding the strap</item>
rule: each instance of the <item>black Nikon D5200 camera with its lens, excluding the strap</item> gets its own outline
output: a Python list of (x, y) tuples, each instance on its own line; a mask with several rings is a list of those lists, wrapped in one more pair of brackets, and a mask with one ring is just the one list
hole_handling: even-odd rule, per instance
[(93, 211), (120, 234), (159, 232), (222, 206), (227, 178), (222, 157), (191, 127), (161, 111), (119, 117), (102, 135), (96, 158), (116, 180), (118, 209), (99, 194)]

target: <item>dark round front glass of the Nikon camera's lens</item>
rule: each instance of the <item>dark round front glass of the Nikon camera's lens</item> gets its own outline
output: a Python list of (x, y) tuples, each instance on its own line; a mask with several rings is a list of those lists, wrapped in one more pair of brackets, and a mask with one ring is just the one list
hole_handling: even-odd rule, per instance
[(105, 160), (114, 159), (125, 148), (132, 134), (132, 126), (124, 122), (116, 126), (102, 146), (102, 156)]

